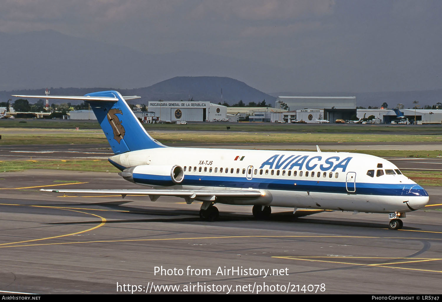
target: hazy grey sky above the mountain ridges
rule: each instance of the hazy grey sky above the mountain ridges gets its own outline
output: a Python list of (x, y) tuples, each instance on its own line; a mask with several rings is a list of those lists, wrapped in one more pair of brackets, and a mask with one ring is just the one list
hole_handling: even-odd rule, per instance
[(301, 74), (316, 91), (442, 87), (441, 0), (0, 1), (6, 33), (247, 59)]

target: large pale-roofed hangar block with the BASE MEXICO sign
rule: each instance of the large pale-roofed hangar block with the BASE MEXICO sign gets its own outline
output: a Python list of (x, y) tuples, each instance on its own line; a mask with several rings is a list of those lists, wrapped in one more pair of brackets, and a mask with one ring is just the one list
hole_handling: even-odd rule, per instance
[[(315, 118), (320, 119), (322, 115), (324, 120), (334, 123), (336, 120), (351, 120), (351, 117), (356, 115), (356, 97), (318, 97), (318, 96), (278, 96), (276, 104), (284, 103), (289, 107), (290, 111), (296, 110), (296, 119), (306, 121), (309, 116), (315, 114)], [(305, 110), (301, 112), (301, 110)], [(313, 112), (313, 109), (321, 109), (321, 111)], [(323, 111), (322, 111), (323, 110)], [(306, 115), (304, 117), (304, 115)], [(317, 115), (317, 117), (316, 117)], [(287, 121), (293, 121), (293, 116), (288, 117)]]

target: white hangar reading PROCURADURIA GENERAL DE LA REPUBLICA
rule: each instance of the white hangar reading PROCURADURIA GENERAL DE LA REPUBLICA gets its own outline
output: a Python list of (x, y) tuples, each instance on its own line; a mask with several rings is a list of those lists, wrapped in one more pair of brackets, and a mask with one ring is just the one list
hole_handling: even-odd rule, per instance
[(196, 101), (150, 101), (158, 121), (216, 121), (227, 118), (226, 106)]

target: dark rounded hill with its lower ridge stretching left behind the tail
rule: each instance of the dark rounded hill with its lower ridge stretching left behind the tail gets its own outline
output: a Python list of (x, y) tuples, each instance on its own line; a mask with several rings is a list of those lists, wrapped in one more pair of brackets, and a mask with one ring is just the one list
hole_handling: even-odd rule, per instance
[[(255, 88), (248, 86), (244, 82), (236, 79), (217, 77), (217, 76), (176, 76), (167, 79), (152, 86), (136, 89), (120, 89), (120, 88), (50, 88), (51, 95), (84, 95), (94, 91), (117, 90), (123, 95), (138, 95), (139, 99), (132, 100), (132, 103), (144, 103), (148, 101), (156, 101), (159, 99), (169, 100), (188, 100), (194, 101), (210, 101), (213, 103), (227, 102), (232, 105), (242, 100), (244, 103), (262, 102), (266, 100), (267, 104), (274, 106), (275, 97), (265, 94)], [(222, 90), (222, 98), (221, 98)], [(0, 91), (0, 101), (6, 102), (8, 98), (12, 98), (11, 94), (28, 94), (28, 95), (44, 95), (45, 88)], [(16, 98), (12, 98), (15, 100)], [(31, 103), (37, 100), (29, 100)], [(51, 100), (50, 103), (63, 103), (68, 101)], [(72, 104), (79, 102), (72, 101)]]

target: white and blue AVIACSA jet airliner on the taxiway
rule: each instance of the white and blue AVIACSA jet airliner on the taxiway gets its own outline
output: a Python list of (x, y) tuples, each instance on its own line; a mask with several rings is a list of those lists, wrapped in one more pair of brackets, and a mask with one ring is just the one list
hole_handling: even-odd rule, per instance
[(376, 156), (347, 152), (236, 150), (167, 147), (154, 140), (117, 91), (85, 96), (28, 96), (88, 102), (114, 155), (109, 162), (123, 179), (152, 189), (42, 191), (60, 193), (130, 194), (182, 197), (187, 204), (201, 201), (200, 217), (216, 219), (215, 204), (253, 205), (258, 219), (271, 207), (385, 213), (391, 229), (400, 218), (424, 207), (428, 193), (404, 176), (391, 162)]

